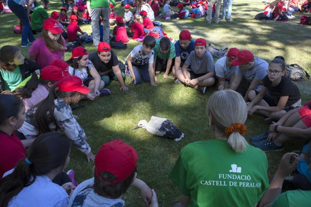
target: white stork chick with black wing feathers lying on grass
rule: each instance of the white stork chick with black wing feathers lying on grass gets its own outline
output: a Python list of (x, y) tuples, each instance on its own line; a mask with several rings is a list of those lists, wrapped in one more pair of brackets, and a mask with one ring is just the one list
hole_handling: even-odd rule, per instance
[(183, 138), (183, 133), (169, 119), (151, 116), (149, 122), (146, 120), (140, 120), (134, 129), (141, 127), (145, 128), (147, 132), (151, 134), (174, 139), (176, 142)]

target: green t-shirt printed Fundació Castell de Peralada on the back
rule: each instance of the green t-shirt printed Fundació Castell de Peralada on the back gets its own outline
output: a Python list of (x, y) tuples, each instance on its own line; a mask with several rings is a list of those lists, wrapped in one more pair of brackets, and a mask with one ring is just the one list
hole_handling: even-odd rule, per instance
[(236, 153), (225, 140), (213, 139), (185, 146), (169, 179), (189, 206), (254, 206), (269, 188), (266, 154), (248, 145)]

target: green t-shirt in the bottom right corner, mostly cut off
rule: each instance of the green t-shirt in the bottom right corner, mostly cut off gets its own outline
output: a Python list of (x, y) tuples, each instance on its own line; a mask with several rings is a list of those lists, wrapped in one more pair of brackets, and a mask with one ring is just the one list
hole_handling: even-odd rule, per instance
[(270, 207), (309, 207), (311, 198), (311, 191), (286, 191), (277, 196), (270, 204)]

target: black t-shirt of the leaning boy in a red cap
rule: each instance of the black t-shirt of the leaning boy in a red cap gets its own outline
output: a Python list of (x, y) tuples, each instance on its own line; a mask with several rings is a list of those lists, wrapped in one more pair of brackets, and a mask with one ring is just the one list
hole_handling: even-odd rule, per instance
[(98, 52), (93, 52), (89, 55), (89, 60), (93, 63), (95, 69), (100, 73), (100, 72), (105, 72), (107, 70), (112, 69), (113, 66), (118, 65), (118, 57), (114, 53), (113, 50), (110, 50), (111, 52), (111, 59), (110, 61), (106, 64), (102, 62), (98, 56)]

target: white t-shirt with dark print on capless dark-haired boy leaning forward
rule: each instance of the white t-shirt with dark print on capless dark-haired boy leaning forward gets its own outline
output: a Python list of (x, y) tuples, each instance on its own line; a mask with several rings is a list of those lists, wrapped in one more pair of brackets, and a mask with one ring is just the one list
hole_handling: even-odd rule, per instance
[(137, 45), (128, 56), (132, 57), (132, 64), (134, 65), (153, 64), (154, 52), (152, 50), (148, 55), (142, 55), (142, 45)]

